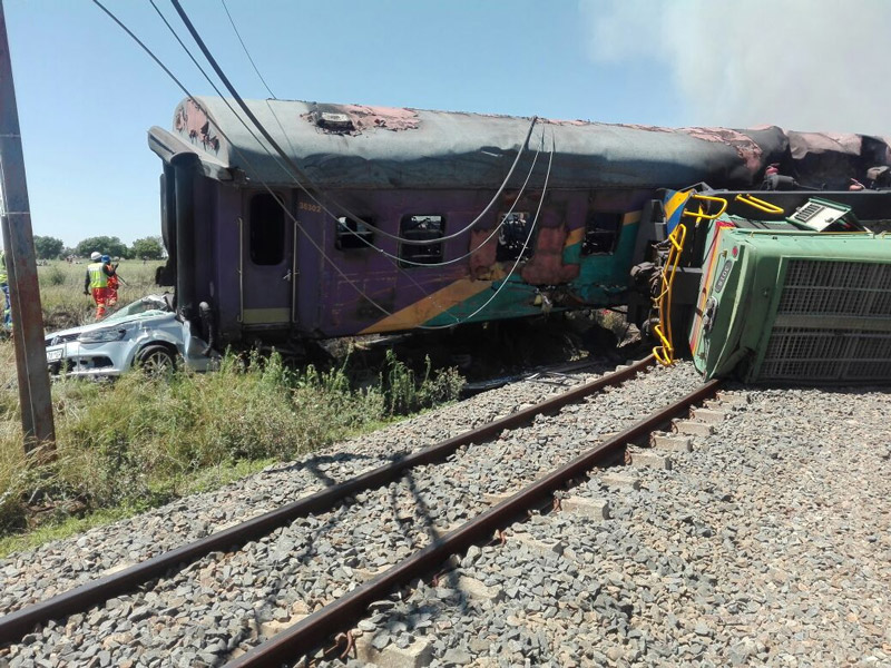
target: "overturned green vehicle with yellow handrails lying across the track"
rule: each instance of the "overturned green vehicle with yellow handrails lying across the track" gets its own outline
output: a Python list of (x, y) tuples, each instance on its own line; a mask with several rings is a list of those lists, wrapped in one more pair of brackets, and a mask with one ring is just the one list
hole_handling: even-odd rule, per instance
[(891, 194), (666, 190), (629, 316), (669, 364), (763, 383), (891, 381)]

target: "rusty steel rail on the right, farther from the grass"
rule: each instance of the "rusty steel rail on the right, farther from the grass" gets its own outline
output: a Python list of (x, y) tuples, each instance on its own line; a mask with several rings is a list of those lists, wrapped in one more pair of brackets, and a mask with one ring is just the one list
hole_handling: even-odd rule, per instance
[(503, 529), (515, 518), (530, 509), (540, 508), (566, 482), (586, 473), (613, 451), (649, 434), (682, 411), (713, 396), (719, 384), (719, 380), (709, 381), (685, 397), (596, 445), (510, 499), (490, 508), (415, 552), (412, 557), (342, 596), (333, 603), (313, 612), (290, 629), (229, 661), (226, 664), (226, 668), (260, 668), (278, 666), (282, 662), (295, 664), (301, 657), (317, 650), (326, 641), (330, 641), (336, 633), (351, 629), (365, 616), (365, 611), (372, 602), (385, 598), (394, 589), (405, 587), (418, 578), (435, 571), (450, 554), (460, 554), (472, 544), (487, 542), (497, 529)]

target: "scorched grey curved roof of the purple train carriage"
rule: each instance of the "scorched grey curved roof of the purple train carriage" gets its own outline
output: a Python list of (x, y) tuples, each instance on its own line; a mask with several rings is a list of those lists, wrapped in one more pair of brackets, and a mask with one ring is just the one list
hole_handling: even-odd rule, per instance
[[(697, 181), (745, 188), (773, 163), (806, 167), (823, 179), (807, 183), (807, 174), (795, 174), (803, 185), (845, 187), (868, 167), (891, 164), (881, 138), (785, 132), (775, 126), (733, 130), (538, 119), (523, 145), (530, 118), (285, 100), (246, 104), (319, 188), (498, 188), (521, 147), (526, 154), (511, 186), (526, 178), (539, 148), (532, 183), (540, 185), (551, 146), (550, 186), (557, 188)], [(247, 131), (238, 115), (222, 98), (185, 99), (170, 131), (149, 130), (149, 147), (168, 163), (195, 156), (199, 169), (218, 180), (293, 185), (278, 156)], [(826, 174), (839, 183), (825, 183)]]

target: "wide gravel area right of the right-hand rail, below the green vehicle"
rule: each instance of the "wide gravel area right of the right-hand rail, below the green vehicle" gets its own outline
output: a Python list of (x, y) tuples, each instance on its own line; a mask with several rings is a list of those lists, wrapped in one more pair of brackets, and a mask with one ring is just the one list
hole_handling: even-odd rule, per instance
[(408, 635), (430, 666), (891, 666), (888, 391), (734, 396), (673, 470), (630, 471), (639, 490), (567, 492), (610, 519), (516, 524), (360, 645)]

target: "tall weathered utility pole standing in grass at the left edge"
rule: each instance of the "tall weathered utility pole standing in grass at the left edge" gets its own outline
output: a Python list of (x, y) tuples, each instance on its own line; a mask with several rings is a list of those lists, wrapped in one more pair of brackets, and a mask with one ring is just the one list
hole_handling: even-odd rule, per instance
[(43, 312), (37, 283), (28, 184), (25, 180), (25, 159), (3, 0), (0, 0), (0, 223), (3, 227), (12, 302), (12, 336), (16, 342), (21, 429), (25, 451), (29, 452), (38, 445), (55, 448), (56, 430), (52, 423), (52, 399), (43, 345)]

